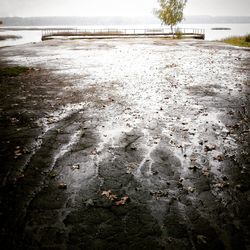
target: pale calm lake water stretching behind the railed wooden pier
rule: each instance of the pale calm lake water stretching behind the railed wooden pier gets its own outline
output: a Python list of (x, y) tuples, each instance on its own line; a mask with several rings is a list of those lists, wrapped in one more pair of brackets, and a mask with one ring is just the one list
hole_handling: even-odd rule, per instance
[[(1, 18), (0, 18), (1, 20)], [(231, 28), (231, 30), (213, 30), (212, 28)], [(167, 26), (161, 26), (160, 24), (137, 24), (137, 25), (51, 25), (51, 26), (4, 26), (0, 25), (0, 35), (17, 35), (22, 36), (22, 39), (17, 40), (5, 40), (0, 41), (0, 47), (9, 45), (26, 44), (30, 42), (39, 42), (44, 34), (45, 30), (58, 31), (58, 30), (86, 30), (86, 29), (162, 29), (169, 28)], [(205, 40), (214, 41), (221, 40), (231, 36), (244, 36), (249, 33), (249, 24), (180, 24), (177, 28), (180, 29), (204, 29)]]

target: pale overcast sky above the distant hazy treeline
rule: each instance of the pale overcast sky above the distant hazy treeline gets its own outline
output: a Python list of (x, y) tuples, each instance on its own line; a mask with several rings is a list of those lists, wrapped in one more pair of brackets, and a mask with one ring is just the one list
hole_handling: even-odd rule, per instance
[[(0, 16), (147, 16), (157, 0), (0, 0)], [(188, 0), (185, 15), (249, 16), (250, 0)]]

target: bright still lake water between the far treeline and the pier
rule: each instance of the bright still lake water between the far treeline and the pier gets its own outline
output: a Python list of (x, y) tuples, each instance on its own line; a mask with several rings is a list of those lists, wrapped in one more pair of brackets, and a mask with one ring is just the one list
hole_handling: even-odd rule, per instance
[[(65, 26), (63, 26), (65, 28)], [(67, 28), (82, 28), (82, 29), (102, 29), (102, 28), (110, 28), (110, 29), (150, 29), (150, 28), (163, 28), (163, 26), (159, 25), (114, 25), (114, 26), (66, 26)], [(180, 28), (195, 28), (195, 29), (204, 29), (205, 30), (205, 39), (208, 41), (212, 40), (220, 40), (229, 36), (239, 36), (246, 35), (250, 33), (250, 23), (244, 24), (180, 24), (178, 25)], [(212, 28), (230, 28), (230, 30), (212, 30)], [(4, 28), (4, 29), (3, 29)], [(8, 30), (7, 30), (8, 28)], [(13, 28), (18, 28), (20, 30), (11, 30)], [(21, 30), (21, 29), (38, 29), (38, 30)], [(30, 26), (30, 27), (4, 27), (0, 28), (0, 35), (16, 35), (21, 36), (21, 39), (8, 39), (5, 41), (0, 41), (0, 47), (4, 46), (13, 46), (18, 44), (25, 44), (31, 42), (39, 42), (41, 41), (42, 29), (43, 28), (60, 28), (60, 26), (56, 27), (44, 27), (44, 26)], [(39, 30), (40, 29), (40, 30)]]

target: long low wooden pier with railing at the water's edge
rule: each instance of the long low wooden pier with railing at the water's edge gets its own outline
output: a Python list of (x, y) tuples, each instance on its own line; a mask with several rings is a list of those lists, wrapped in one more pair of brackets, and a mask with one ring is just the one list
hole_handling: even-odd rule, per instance
[[(170, 29), (45, 29), (42, 31), (42, 40), (54, 38), (72, 38), (72, 39), (100, 39), (117, 37), (172, 37)], [(204, 29), (175, 29), (175, 37), (205, 39)]]

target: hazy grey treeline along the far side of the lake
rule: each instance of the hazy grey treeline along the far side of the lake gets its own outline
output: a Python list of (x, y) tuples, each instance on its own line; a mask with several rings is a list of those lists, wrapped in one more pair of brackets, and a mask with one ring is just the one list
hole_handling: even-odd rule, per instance
[[(148, 17), (0, 17), (5, 26), (65, 26), (65, 25), (143, 25), (160, 24), (154, 16)], [(250, 23), (246, 17), (189, 16), (183, 23)]]

